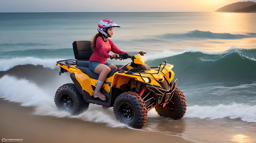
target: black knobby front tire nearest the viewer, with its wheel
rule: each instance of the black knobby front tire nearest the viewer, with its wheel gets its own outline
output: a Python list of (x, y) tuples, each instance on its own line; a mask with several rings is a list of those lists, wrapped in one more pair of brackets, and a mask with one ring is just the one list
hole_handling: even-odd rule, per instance
[(115, 118), (130, 127), (141, 129), (147, 120), (147, 109), (143, 99), (132, 91), (120, 94), (113, 105)]

